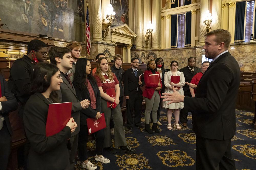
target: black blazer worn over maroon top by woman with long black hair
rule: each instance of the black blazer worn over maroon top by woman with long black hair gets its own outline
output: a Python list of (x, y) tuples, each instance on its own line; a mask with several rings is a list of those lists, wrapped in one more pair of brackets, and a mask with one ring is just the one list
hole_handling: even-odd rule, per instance
[[(101, 113), (101, 97), (100, 97), (99, 87), (96, 82), (92, 82), (91, 80), (89, 80), (89, 81), (92, 85), (92, 88), (93, 88), (93, 91), (95, 94), (95, 98), (96, 98), (96, 109), (93, 110), (91, 107), (88, 107), (87, 109), (80, 111), (81, 125), (87, 125), (87, 121), (86, 121), (87, 118), (95, 118), (95, 116), (97, 115), (97, 112)], [(76, 94), (77, 94), (78, 100), (82, 101), (84, 99), (88, 99), (91, 101), (90, 93), (87, 88), (80, 90), (79, 85), (77, 85), (77, 84), (74, 84), (74, 87), (76, 89)], [(91, 103), (90, 103), (90, 106), (91, 106)]]

